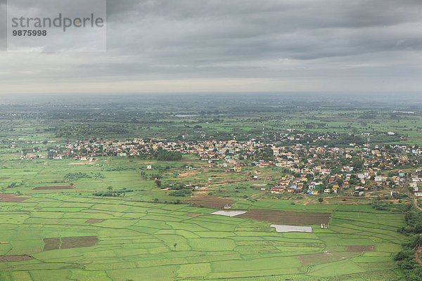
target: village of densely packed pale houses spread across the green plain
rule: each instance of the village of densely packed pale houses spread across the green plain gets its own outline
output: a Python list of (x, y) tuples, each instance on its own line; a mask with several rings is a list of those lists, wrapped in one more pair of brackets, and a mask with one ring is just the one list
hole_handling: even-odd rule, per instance
[[(44, 142), (45, 144), (45, 142)], [(49, 143), (48, 151), (24, 149), (20, 159), (52, 158), (94, 162), (96, 157), (150, 157), (160, 150), (196, 155), (210, 168), (222, 167), (229, 173), (241, 173), (243, 166), (255, 166), (251, 181), (271, 184), (262, 191), (272, 195), (306, 193), (364, 196), (365, 192), (389, 188), (392, 197), (422, 196), (422, 149), (418, 146), (350, 144), (348, 148), (309, 145), (282, 146), (279, 143), (242, 141), (165, 140), (75, 141), (65, 145)], [(280, 168), (279, 178), (263, 176), (269, 166)], [(147, 166), (151, 169), (151, 165)], [(274, 183), (274, 184), (272, 184)], [(400, 194), (397, 189), (407, 190)], [(405, 188), (405, 189), (403, 189)], [(402, 192), (403, 193), (403, 192)]]

